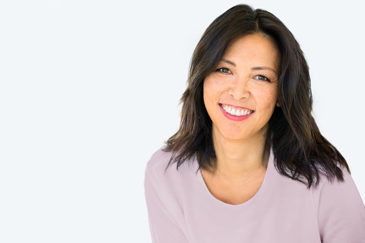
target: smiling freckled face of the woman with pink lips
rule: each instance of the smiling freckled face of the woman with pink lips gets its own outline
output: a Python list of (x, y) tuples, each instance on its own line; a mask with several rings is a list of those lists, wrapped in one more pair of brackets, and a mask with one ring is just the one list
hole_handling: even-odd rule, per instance
[(228, 140), (265, 136), (277, 101), (280, 52), (268, 37), (252, 34), (234, 42), (204, 79), (204, 104), (212, 132)]

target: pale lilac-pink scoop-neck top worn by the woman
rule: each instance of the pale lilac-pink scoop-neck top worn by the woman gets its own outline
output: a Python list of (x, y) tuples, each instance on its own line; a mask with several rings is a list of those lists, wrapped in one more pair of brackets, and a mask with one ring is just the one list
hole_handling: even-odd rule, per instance
[(365, 207), (347, 171), (345, 182), (316, 189), (280, 175), (270, 154), (265, 179), (245, 203), (231, 205), (208, 190), (197, 160), (164, 173), (171, 153), (147, 162), (145, 197), (153, 243), (364, 243)]

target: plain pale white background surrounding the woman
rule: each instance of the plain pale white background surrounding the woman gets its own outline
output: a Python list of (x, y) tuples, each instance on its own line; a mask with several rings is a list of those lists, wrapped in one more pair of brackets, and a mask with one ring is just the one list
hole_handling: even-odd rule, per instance
[[(1, 1), (0, 242), (150, 242), (146, 162), (205, 28), (239, 1)], [(365, 199), (361, 1), (248, 1), (292, 31)]]

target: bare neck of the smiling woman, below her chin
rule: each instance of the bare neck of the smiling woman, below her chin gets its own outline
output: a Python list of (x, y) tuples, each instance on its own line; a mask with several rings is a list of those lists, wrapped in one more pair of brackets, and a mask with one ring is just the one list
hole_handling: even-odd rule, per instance
[(214, 127), (212, 132), (217, 158), (216, 174), (228, 180), (241, 180), (266, 172), (268, 163), (268, 156), (265, 153), (266, 131), (242, 141), (216, 136), (218, 131)]

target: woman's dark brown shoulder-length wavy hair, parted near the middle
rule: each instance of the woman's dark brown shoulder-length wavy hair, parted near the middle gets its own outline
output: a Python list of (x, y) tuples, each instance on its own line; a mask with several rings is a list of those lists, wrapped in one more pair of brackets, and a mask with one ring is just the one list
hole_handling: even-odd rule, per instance
[[(197, 158), (199, 168), (216, 168), (212, 121), (203, 101), (204, 78), (214, 69), (235, 40), (250, 34), (267, 36), (281, 52), (278, 101), (268, 124), (265, 153), (270, 148), (279, 173), (311, 188), (326, 177), (343, 181), (341, 167), (348, 172), (345, 158), (319, 132), (311, 115), (312, 93), (309, 68), (298, 42), (272, 13), (236, 5), (216, 18), (197, 44), (190, 63), (188, 87), (183, 103), (180, 128), (166, 141), (164, 151), (172, 152), (166, 169), (176, 162)], [(197, 171), (196, 171), (197, 172)]]

